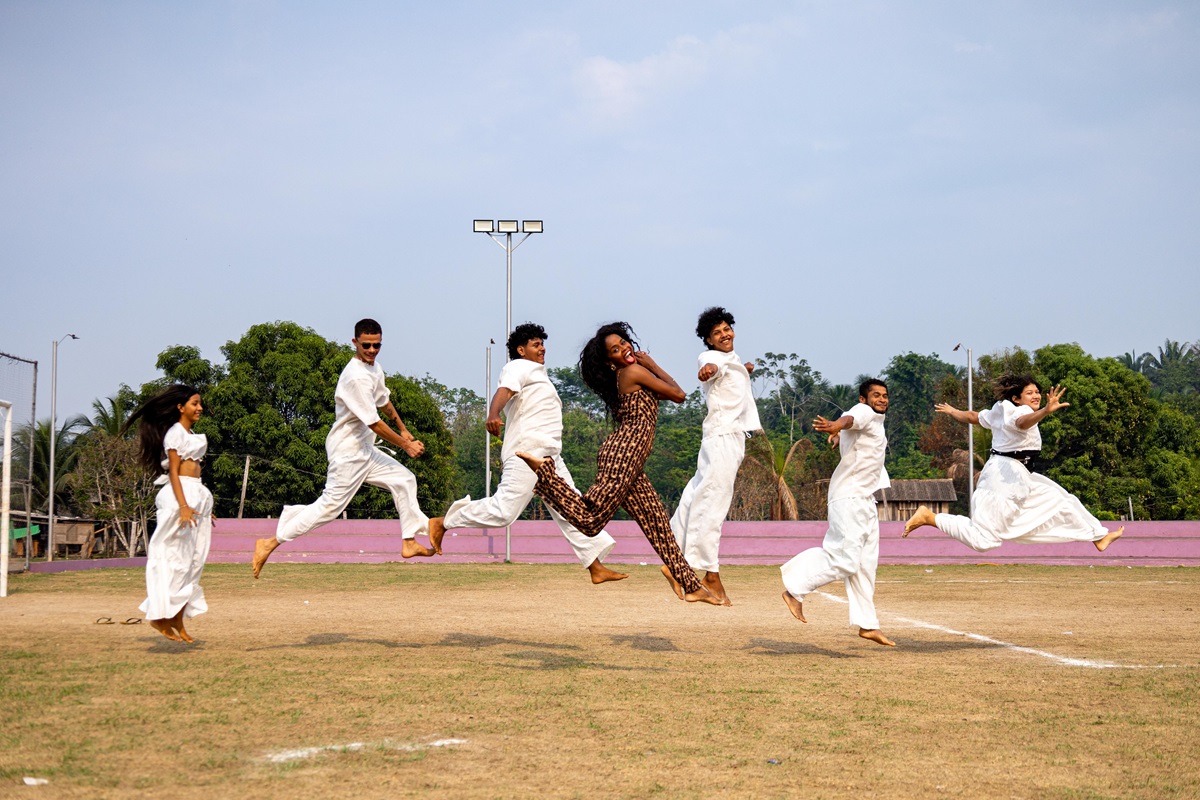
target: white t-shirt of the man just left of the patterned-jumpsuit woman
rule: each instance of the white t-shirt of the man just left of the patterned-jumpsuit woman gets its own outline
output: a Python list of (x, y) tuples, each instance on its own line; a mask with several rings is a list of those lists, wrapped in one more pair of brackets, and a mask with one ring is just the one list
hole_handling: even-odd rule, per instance
[(499, 387), (512, 397), (504, 404), (504, 447), (508, 461), (518, 450), (539, 451), (544, 458), (563, 449), (563, 401), (546, 374), (546, 366), (514, 359), (500, 369)]

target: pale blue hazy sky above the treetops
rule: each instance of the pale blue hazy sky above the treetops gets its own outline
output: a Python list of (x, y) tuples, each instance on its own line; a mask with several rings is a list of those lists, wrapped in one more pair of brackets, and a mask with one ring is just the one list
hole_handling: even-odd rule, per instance
[[(482, 391), (514, 319), (574, 361), (628, 319), (695, 386), (1200, 338), (1200, 6), (1186, 2), (0, 4), (0, 350), (59, 414), (155, 355), (384, 325), (389, 372)], [(500, 363), (497, 351), (497, 368)]]

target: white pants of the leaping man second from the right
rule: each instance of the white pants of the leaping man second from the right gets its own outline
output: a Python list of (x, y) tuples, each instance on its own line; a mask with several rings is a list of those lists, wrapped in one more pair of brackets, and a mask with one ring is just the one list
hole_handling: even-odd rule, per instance
[(865, 631), (880, 627), (875, 614), (875, 569), (880, 565), (880, 517), (874, 498), (829, 503), (829, 530), (821, 547), (811, 547), (779, 567), (784, 588), (800, 602), (833, 581), (846, 583), (850, 624)]

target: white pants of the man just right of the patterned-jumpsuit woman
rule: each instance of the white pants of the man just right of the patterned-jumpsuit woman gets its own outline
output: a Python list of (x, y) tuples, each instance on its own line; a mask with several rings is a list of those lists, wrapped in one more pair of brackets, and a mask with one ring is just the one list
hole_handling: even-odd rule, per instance
[(733, 482), (746, 455), (744, 433), (709, 437), (700, 443), (696, 474), (679, 497), (671, 517), (671, 533), (694, 570), (718, 572), (721, 524), (733, 503)]

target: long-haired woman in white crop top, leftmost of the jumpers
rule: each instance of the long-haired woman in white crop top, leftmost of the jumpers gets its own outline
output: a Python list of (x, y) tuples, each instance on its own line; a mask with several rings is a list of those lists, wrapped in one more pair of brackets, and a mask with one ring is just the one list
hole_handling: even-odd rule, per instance
[(148, 399), (130, 416), (137, 420), (142, 463), (162, 470), (155, 481), (155, 530), (146, 546), (146, 599), (140, 610), (150, 626), (175, 642), (191, 642), (184, 619), (209, 609), (200, 575), (212, 539), (212, 493), (200, 482), (208, 450), (192, 426), (204, 407), (191, 386), (175, 384)]

